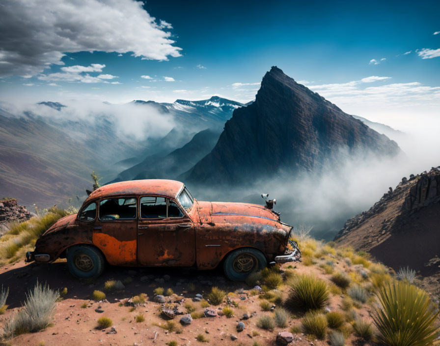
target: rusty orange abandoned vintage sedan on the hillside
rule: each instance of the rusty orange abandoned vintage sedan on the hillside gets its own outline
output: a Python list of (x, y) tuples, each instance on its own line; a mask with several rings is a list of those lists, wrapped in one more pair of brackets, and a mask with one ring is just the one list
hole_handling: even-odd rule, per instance
[(122, 181), (93, 191), (78, 214), (58, 220), (26, 257), (66, 258), (77, 278), (99, 276), (106, 262), (198, 269), (222, 263), (229, 279), (241, 281), (268, 262), (301, 257), (273, 202), (199, 202), (179, 181)]

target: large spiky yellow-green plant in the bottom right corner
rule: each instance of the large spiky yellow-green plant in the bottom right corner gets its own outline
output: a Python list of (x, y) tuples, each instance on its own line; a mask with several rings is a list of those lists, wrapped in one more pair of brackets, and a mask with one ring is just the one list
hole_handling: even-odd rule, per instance
[(432, 345), (439, 330), (434, 324), (439, 312), (425, 291), (394, 281), (377, 296), (381, 308), (376, 309), (373, 321), (381, 342), (388, 346)]

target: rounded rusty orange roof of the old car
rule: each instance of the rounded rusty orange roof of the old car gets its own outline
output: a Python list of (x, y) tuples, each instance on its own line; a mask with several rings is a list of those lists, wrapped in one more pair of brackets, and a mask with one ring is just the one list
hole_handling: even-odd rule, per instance
[(116, 196), (160, 195), (169, 198), (176, 198), (177, 194), (183, 189), (183, 187), (184, 184), (182, 182), (167, 179), (120, 181), (101, 186), (93, 191), (85, 202)]

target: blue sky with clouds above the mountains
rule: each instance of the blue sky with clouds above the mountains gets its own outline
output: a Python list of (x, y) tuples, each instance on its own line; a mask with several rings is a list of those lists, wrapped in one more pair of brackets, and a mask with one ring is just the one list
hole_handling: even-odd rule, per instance
[[(440, 107), (439, 1), (5, 4), (1, 101), (172, 102), (216, 94), (247, 102), (277, 65), (344, 111), (373, 120), (421, 109), (436, 116)], [(52, 24), (44, 15), (55, 17)], [(20, 27), (29, 21), (28, 30)]]

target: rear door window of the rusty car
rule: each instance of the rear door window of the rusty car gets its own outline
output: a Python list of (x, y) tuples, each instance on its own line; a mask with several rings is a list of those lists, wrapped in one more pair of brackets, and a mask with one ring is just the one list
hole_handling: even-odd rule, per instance
[(136, 219), (136, 210), (135, 198), (109, 198), (99, 202), (99, 219), (132, 220)]

